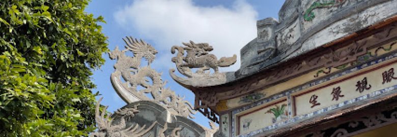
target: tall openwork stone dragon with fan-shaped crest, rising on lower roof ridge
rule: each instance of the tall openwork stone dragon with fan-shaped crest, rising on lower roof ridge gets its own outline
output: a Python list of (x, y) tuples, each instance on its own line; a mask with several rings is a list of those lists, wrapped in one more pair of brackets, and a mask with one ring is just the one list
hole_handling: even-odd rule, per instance
[[(109, 52), (110, 59), (117, 60), (110, 81), (120, 97), (127, 104), (139, 100), (154, 101), (177, 115), (194, 118), (192, 115), (196, 112), (192, 105), (173, 90), (164, 88), (166, 82), (162, 81), (161, 74), (150, 67), (156, 57), (156, 49), (143, 40), (132, 37), (123, 40), (126, 43), (124, 50), (120, 51), (116, 46)], [(133, 57), (125, 54), (128, 51), (133, 52)], [(147, 66), (141, 66), (142, 58), (148, 61)]]

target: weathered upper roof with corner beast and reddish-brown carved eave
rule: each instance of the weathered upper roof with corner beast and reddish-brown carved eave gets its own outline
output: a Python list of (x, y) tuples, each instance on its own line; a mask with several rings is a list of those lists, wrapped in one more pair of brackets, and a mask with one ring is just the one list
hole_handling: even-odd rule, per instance
[[(278, 21), (274, 18), (257, 21), (257, 38), (240, 50), (241, 66), (236, 72), (217, 72), (217, 67), (234, 63), (233, 57), (222, 57), (213, 61), (228, 65), (211, 66), (215, 73), (205, 73), (210, 69), (209, 62), (192, 64), (191, 60), (213, 57), (209, 54), (212, 46), (191, 42), (178, 49), (190, 50), (198, 56), (189, 58), (189, 52), (186, 57), (179, 52), (173, 58), (186, 78), (178, 77), (174, 70), (170, 71), (171, 76), (195, 93), (195, 109), (210, 108), (218, 113), (215, 107), (222, 106), (225, 103), (222, 100), (263, 90), (316, 68), (336, 67), (357, 59), (364, 52), (351, 50), (342, 58), (345, 49), (341, 47), (365, 45), (360, 40), (386, 31), (379, 28), (396, 20), (395, 3), (396, 0), (287, 0), (279, 11)], [(194, 73), (191, 68), (199, 71)], [(204, 113), (210, 115), (208, 110)]]

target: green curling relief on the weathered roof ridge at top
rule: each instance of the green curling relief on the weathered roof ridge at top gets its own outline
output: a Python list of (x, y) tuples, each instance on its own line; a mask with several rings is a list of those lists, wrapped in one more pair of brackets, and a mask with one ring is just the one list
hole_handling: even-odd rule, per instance
[(331, 1), (319, 0), (319, 1), (316, 1), (313, 4), (311, 4), (310, 7), (305, 11), (305, 13), (303, 14), (303, 18), (305, 21), (311, 21), (316, 17), (313, 10), (318, 9), (318, 8), (339, 6), (339, 5), (344, 4), (346, 1), (347, 0), (331, 0)]

